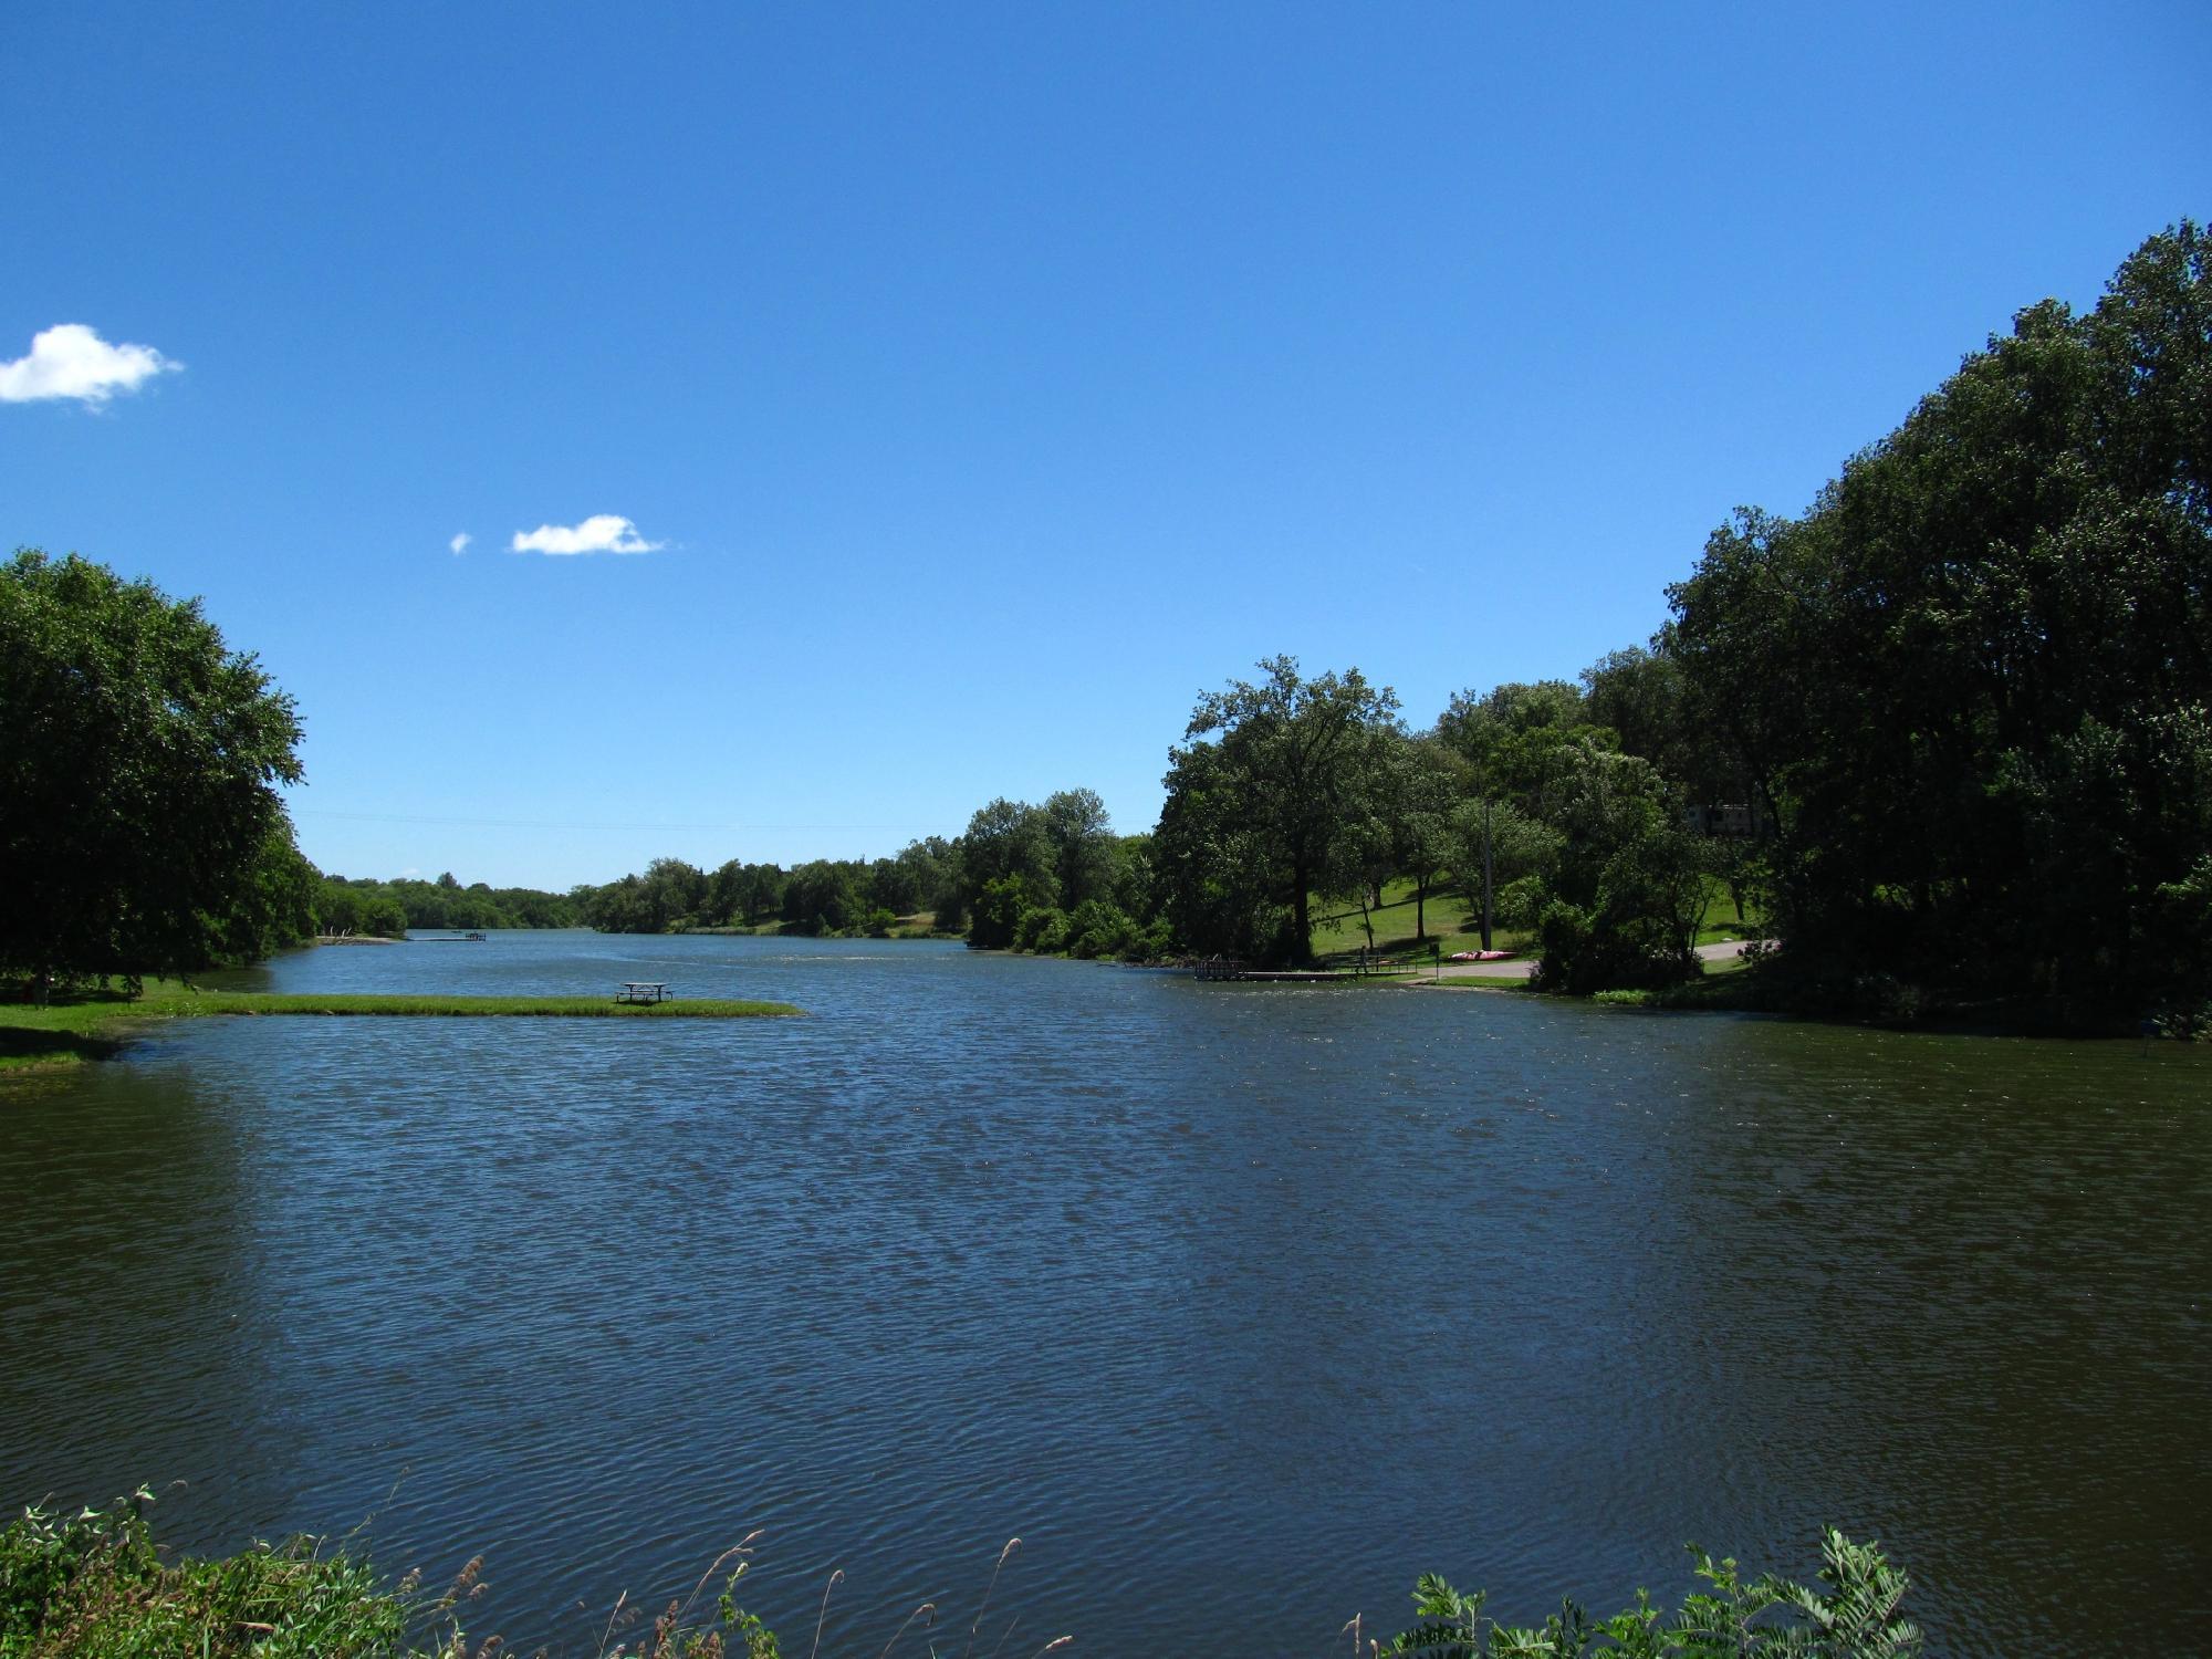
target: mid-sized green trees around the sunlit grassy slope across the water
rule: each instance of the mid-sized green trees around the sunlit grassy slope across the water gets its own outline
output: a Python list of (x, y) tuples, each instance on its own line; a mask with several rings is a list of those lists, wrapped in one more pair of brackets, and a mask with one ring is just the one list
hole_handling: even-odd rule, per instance
[[(1540, 933), (1542, 978), (1571, 991), (1694, 973), (1705, 872), (1725, 856), (1688, 827), (1686, 794), (1593, 719), (1646, 672), (1619, 653), (1566, 681), (1460, 692), (1409, 730), (1354, 668), (1305, 679), (1261, 664), (1192, 710), (1170, 752), (1157, 858), (1175, 938), (1194, 953), (1305, 962), (1314, 896), (1378, 900), (1453, 885), (1489, 925)], [(1677, 741), (1668, 728), (1652, 748)]]

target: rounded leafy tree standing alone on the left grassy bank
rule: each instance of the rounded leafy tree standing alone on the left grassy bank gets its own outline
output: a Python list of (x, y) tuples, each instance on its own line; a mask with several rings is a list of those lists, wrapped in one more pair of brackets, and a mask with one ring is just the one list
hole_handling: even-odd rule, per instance
[(44, 982), (217, 960), (296, 743), (292, 699), (197, 599), (18, 553), (0, 566), (0, 962)]

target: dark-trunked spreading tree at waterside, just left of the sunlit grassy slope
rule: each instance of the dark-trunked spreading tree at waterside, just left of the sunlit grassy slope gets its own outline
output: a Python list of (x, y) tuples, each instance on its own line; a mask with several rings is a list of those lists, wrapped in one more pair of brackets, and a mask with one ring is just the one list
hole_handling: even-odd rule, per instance
[[(1248, 933), (1259, 898), (1287, 909), (1276, 953), (1305, 962), (1314, 953), (1312, 894), (1338, 865), (1352, 825), (1371, 816), (1398, 697), (1369, 686), (1358, 668), (1318, 679), (1301, 679), (1296, 657), (1259, 668), (1261, 681), (1230, 681), (1192, 708), (1183, 743), (1168, 752), (1159, 843), (1181, 865), (1192, 925), (1225, 920)], [(1243, 916), (1210, 920), (1203, 911), (1221, 900)]]

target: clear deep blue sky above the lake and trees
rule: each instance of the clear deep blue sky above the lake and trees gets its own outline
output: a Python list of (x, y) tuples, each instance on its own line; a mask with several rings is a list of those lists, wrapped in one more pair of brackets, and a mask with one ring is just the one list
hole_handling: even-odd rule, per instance
[[(1148, 827), (1201, 688), (1571, 677), (2212, 215), (2201, 4), (18, 0), (0, 55), (0, 540), (204, 595), (352, 876)], [(509, 551), (593, 518), (657, 551)]]

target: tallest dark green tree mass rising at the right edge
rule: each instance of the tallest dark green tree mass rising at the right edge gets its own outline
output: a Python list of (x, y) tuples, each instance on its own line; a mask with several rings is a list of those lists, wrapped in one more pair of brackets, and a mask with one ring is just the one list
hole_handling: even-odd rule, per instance
[(1787, 960), (2141, 1013), (2212, 998), (2212, 250), (2022, 310), (1801, 520), (1670, 591), (1694, 719), (1774, 821)]

